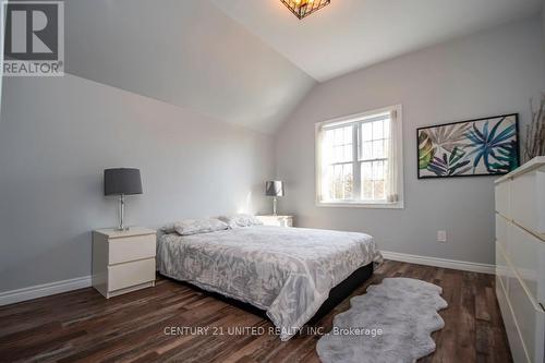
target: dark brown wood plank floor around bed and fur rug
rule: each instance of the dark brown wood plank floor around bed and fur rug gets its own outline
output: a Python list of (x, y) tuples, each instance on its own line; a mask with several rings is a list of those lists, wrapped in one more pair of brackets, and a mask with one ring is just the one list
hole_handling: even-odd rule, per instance
[[(511, 362), (493, 276), (387, 261), (353, 295), (384, 277), (412, 277), (444, 288), (446, 326), (433, 334), (435, 353), (419, 362)], [(327, 331), (332, 316), (348, 307), (347, 299), (314, 326)], [(88, 288), (0, 307), (0, 361), (319, 362), (318, 336), (281, 342), (268, 334), (213, 334), (247, 326), (268, 329), (271, 324), (169, 279), (110, 300)], [(210, 328), (172, 336), (165, 334), (169, 327)]]

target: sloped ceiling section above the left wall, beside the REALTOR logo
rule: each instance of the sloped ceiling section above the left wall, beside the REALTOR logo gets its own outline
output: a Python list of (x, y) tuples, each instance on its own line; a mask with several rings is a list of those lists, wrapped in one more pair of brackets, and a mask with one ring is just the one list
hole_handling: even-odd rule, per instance
[(203, 0), (68, 0), (66, 72), (272, 132), (315, 81)]

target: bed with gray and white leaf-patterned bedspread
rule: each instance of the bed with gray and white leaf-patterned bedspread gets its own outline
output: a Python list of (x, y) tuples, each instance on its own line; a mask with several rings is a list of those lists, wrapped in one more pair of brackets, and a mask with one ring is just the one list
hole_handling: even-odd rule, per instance
[(161, 275), (265, 311), (282, 341), (382, 262), (364, 233), (270, 226), (162, 234), (157, 258)]

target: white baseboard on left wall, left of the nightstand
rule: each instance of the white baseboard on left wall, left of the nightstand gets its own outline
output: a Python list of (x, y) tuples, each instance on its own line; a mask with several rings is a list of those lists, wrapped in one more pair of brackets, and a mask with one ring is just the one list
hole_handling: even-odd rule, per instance
[(53, 295), (56, 293), (88, 288), (92, 286), (90, 276), (76, 277), (75, 279), (56, 281), (28, 288), (0, 292), (0, 306), (14, 304), (21, 301)]

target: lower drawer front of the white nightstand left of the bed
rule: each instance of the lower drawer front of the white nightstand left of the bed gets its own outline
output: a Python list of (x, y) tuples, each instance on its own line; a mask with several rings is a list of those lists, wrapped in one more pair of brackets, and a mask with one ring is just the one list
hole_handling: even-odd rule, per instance
[(155, 258), (108, 266), (108, 291), (155, 280)]

